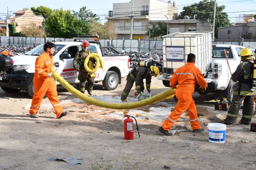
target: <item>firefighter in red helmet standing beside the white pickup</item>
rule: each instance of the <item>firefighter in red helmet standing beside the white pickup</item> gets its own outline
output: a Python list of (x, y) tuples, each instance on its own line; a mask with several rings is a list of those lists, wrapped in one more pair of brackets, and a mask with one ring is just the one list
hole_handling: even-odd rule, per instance
[[(85, 58), (93, 53), (93, 51), (88, 49), (89, 42), (87, 40), (83, 40), (81, 43), (82, 50), (78, 51), (75, 54), (74, 60), (73, 60), (73, 67), (75, 70), (78, 71), (78, 77), (79, 80), (79, 91), (81, 93), (84, 93), (85, 91), (85, 81), (87, 80), (88, 87), (87, 92), (89, 95), (92, 95), (92, 88), (95, 83), (94, 77), (90, 76), (90, 74), (85, 70), (84, 68), (84, 60)], [(95, 60), (93, 58), (90, 58), (90, 61), (93, 64), (93, 67), (95, 67)], [(88, 67), (91, 67), (88, 63)]]

